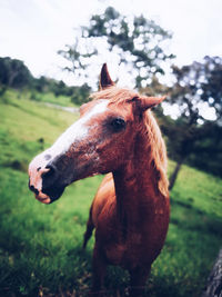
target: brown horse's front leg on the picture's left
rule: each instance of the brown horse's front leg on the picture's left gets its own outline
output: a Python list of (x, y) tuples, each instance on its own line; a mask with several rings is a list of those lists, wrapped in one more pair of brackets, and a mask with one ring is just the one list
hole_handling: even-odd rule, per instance
[(92, 259), (92, 289), (91, 296), (103, 296), (103, 283), (107, 271), (107, 263), (102, 249), (95, 244)]

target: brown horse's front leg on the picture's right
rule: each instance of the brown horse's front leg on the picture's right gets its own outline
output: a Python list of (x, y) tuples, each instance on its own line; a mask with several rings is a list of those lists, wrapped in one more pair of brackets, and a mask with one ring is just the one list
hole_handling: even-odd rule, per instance
[(130, 297), (144, 296), (145, 281), (151, 266), (138, 267), (130, 271)]

